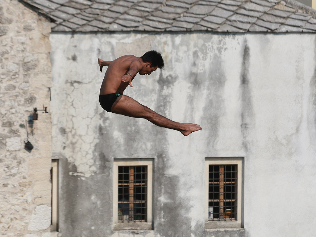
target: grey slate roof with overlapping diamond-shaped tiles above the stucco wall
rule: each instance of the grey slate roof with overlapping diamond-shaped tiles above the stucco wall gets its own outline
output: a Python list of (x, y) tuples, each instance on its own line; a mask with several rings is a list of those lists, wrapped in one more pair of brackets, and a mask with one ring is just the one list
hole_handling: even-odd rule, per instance
[(52, 32), (316, 32), (316, 11), (293, 0), (22, 0)]

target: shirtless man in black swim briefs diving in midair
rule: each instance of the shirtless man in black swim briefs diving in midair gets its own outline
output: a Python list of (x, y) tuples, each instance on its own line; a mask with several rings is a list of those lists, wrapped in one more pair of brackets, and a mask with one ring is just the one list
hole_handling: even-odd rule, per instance
[(133, 87), (131, 82), (137, 73), (139, 75), (150, 75), (157, 68), (163, 69), (164, 62), (159, 52), (152, 50), (146, 52), (140, 58), (134, 55), (125, 55), (114, 61), (103, 61), (99, 58), (98, 63), (101, 72), (103, 66), (108, 67), (99, 97), (100, 105), (107, 112), (147, 119), (157, 126), (177, 130), (184, 136), (202, 130), (201, 126), (197, 124), (183, 124), (167, 119), (131, 97), (123, 95), (128, 85)]

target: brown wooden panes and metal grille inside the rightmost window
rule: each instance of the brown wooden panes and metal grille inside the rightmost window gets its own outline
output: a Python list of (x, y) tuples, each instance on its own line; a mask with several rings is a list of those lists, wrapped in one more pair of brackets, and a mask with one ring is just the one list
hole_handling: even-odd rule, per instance
[(237, 165), (209, 165), (209, 221), (237, 220)]

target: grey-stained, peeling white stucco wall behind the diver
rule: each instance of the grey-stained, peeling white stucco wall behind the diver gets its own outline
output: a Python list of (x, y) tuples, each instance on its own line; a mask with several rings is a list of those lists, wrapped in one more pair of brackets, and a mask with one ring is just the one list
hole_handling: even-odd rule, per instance
[[(316, 232), (314, 34), (53, 33), (50, 40), (63, 235)], [(125, 94), (203, 131), (184, 137), (100, 107), (104, 73), (97, 58), (152, 49), (162, 53), (166, 69), (138, 75)], [(113, 232), (113, 158), (143, 157), (155, 160), (154, 230)], [(245, 157), (245, 232), (204, 231), (205, 157)]]

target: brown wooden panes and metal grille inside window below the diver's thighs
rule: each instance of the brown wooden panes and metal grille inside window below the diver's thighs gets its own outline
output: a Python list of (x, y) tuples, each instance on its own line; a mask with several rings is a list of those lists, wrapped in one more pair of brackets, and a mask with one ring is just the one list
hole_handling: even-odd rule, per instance
[(118, 167), (118, 222), (147, 222), (147, 166)]

